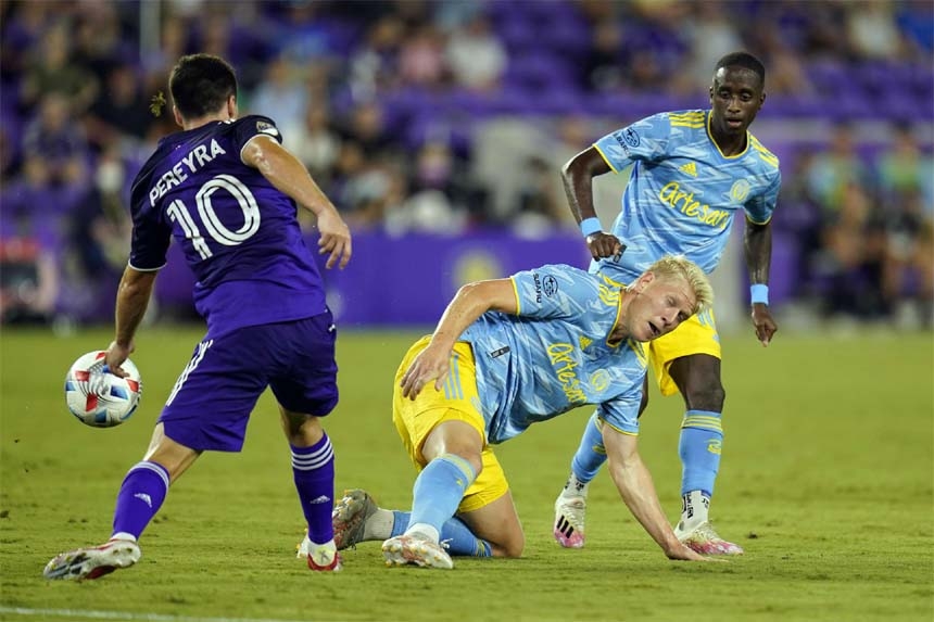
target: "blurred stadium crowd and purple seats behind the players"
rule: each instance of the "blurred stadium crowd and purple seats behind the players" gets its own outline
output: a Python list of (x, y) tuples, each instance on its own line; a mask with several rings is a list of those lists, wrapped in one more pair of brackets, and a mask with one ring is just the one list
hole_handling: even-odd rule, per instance
[[(128, 186), (175, 131), (167, 73), (228, 59), (355, 230), (573, 230), (558, 168), (603, 134), (768, 68), (796, 297), (887, 321), (934, 289), (934, 3), (2, 1), (2, 319), (108, 319)], [(621, 185), (598, 193), (611, 215)], [(608, 225), (609, 217), (604, 217)]]

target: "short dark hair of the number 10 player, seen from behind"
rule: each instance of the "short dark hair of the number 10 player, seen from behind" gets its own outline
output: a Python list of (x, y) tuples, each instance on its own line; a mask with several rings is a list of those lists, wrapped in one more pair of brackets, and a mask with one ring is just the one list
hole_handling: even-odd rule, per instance
[(199, 118), (219, 111), (237, 94), (237, 76), (219, 56), (189, 54), (172, 68), (168, 90), (182, 117)]

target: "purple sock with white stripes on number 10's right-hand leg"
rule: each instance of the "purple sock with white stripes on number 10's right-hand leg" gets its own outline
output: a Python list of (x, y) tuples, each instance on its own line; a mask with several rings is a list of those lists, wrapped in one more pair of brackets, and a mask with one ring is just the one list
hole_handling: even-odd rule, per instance
[(333, 536), (331, 510), (335, 507), (335, 450), (325, 434), (311, 447), (292, 447), (292, 473), (302, 511), (308, 521), (308, 538), (315, 544)]

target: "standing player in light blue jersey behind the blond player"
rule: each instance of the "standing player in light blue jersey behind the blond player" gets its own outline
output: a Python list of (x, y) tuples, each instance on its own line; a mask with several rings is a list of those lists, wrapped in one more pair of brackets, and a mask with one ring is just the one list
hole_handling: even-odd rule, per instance
[[(762, 107), (766, 71), (745, 52), (728, 54), (714, 69), (710, 110), (666, 112), (599, 139), (571, 158), (561, 174), (571, 212), (593, 256), (590, 271), (633, 282), (664, 253), (683, 253), (704, 271), (717, 267), (733, 215), (746, 215), (746, 266), (756, 335), (768, 345), (777, 330), (768, 306), (770, 218), (781, 185), (779, 160), (748, 132)], [(633, 165), (613, 230), (602, 230), (592, 179)], [(708, 309), (652, 342), (652, 368), (664, 395), (680, 391), (685, 412), (679, 453), (683, 465), (678, 537), (706, 555), (739, 555), (708, 520), (720, 465), (725, 393), (720, 340)], [(647, 405), (643, 394), (641, 410)], [(599, 417), (586, 424), (571, 474), (555, 502), (554, 536), (561, 546), (584, 545), (588, 484), (606, 460)]]

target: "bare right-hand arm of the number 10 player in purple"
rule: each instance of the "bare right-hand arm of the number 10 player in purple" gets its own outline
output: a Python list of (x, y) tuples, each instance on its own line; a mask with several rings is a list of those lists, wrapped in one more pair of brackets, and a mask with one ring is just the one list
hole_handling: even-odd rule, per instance
[(318, 253), (328, 253), (328, 268), (343, 268), (350, 262), (351, 234), (333, 203), (321, 192), (307, 169), (275, 139), (256, 136), (243, 147), (243, 163), (256, 168), (277, 190), (310, 210), (318, 220)]

